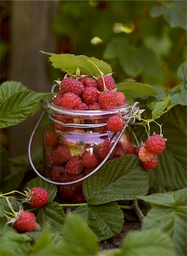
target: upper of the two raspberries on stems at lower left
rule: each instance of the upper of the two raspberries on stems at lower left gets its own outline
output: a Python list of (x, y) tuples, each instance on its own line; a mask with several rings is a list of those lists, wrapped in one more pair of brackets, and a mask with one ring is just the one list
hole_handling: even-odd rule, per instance
[(49, 202), (49, 193), (44, 188), (33, 187), (30, 193), (31, 197), (28, 203), (32, 207), (42, 207)]

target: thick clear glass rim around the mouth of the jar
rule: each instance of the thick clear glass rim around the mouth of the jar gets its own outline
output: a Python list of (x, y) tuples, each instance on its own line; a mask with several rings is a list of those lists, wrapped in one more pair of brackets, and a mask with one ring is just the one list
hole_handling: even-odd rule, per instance
[(51, 114), (56, 113), (56, 114), (73, 115), (73, 116), (81, 115), (82, 117), (88, 117), (88, 116), (111, 115), (111, 114), (117, 114), (118, 112), (125, 114), (125, 113), (129, 113), (131, 110), (130, 105), (122, 105), (113, 109), (99, 109), (99, 110), (68, 109), (68, 108), (64, 108), (63, 106), (57, 106), (53, 104), (52, 100), (56, 95), (57, 94), (52, 93), (41, 98), (40, 106), (45, 112), (51, 113)]

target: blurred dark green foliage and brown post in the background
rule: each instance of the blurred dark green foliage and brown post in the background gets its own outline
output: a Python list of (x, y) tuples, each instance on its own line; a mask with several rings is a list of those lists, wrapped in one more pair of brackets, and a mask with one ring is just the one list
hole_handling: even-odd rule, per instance
[[(1, 1), (0, 49), (1, 83), (37, 92), (63, 78), (40, 50), (103, 59), (117, 82), (173, 88), (186, 60), (186, 1)], [(11, 156), (27, 152), (36, 119), (7, 129)]]

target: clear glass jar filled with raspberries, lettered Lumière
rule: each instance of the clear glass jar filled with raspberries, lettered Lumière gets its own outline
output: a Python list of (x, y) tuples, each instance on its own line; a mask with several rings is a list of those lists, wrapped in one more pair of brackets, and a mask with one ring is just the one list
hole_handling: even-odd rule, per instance
[[(42, 98), (41, 108), (48, 113), (44, 131), (43, 175), (56, 183), (62, 202), (84, 203), (82, 178), (89, 176), (106, 159), (118, 138), (107, 129), (107, 120), (118, 112), (128, 114), (131, 106), (106, 110), (75, 110), (54, 105), (54, 94)], [(133, 154), (133, 145), (124, 133), (108, 159)], [(75, 183), (74, 181), (80, 180)]]

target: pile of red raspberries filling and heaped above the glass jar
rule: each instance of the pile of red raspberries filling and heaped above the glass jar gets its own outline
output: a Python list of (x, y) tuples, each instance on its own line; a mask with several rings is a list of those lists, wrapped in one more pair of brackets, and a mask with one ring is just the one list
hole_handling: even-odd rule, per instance
[[(80, 80), (65, 76), (60, 82), (57, 96), (53, 98), (53, 104), (75, 111), (104, 110), (124, 106), (126, 99), (124, 93), (116, 91), (116, 84), (110, 75), (99, 77), (97, 81), (88, 76), (84, 76)], [(65, 115), (56, 115), (54, 118), (64, 124), (77, 122), (77, 119)], [(84, 122), (81, 118), (78, 121)], [(89, 121), (90, 123), (103, 122), (107, 125), (83, 129), (66, 127), (52, 122), (52, 125), (46, 127), (44, 140), (48, 152), (45, 161), (45, 175), (53, 181), (69, 182), (88, 175), (107, 156), (117, 138), (115, 133), (121, 131), (125, 125), (122, 117), (118, 114), (111, 114), (107, 119), (86, 120), (86, 122)], [(86, 133), (89, 136), (86, 136)], [(141, 152), (141, 149), (139, 151)], [(127, 154), (136, 154), (136, 152), (137, 150), (134, 152), (133, 144), (126, 131), (114, 148), (109, 160)], [(152, 156), (154, 155), (152, 154)], [(146, 163), (149, 160), (151, 158), (146, 159)], [(143, 160), (141, 159), (141, 161)], [(145, 167), (144, 164), (142, 165)], [(72, 185), (58, 186), (58, 195), (64, 202), (84, 203), (86, 201), (82, 192), (82, 181)]]

